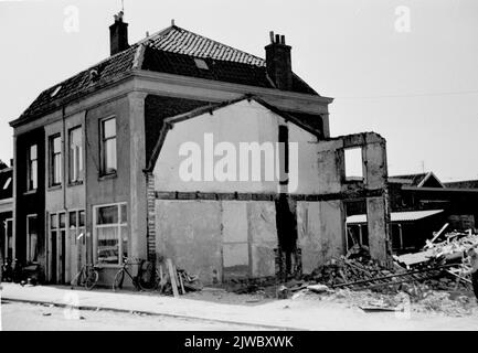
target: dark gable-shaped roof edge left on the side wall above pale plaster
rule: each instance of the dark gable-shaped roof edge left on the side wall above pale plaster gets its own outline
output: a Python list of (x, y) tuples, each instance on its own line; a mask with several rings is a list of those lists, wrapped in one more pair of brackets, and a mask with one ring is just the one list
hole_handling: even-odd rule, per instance
[[(308, 121), (302, 121), (300, 117), (296, 117), (295, 113), (285, 111), (283, 109), (279, 109), (265, 100), (261, 99), (259, 97), (256, 97), (254, 95), (245, 95), (241, 98), (233, 99), (233, 100), (226, 100), (219, 104), (208, 104), (204, 103), (203, 105), (196, 105), (189, 111), (179, 111), (174, 116), (170, 116), (167, 118), (161, 119), (161, 131), (158, 135), (158, 139), (156, 141), (156, 146), (152, 148), (151, 154), (149, 160), (147, 160), (147, 168), (146, 170), (151, 171), (155, 168), (156, 161), (159, 157), (159, 153), (161, 151), (162, 145), (164, 143), (166, 136), (168, 135), (168, 131), (172, 128), (172, 126), (177, 122), (181, 122), (184, 120), (193, 119), (195, 117), (199, 117), (201, 115), (204, 115), (206, 113), (213, 114), (213, 111), (231, 106), (233, 104), (243, 101), (243, 100), (254, 100), (265, 107), (266, 109), (273, 111), (274, 114), (277, 114), (278, 116), (283, 117), (286, 121), (291, 121), (295, 125), (297, 125), (299, 128), (317, 136), (318, 138), (322, 138), (322, 131), (320, 129), (315, 128), (314, 126), (310, 126)], [(318, 116), (316, 116), (318, 118)]]

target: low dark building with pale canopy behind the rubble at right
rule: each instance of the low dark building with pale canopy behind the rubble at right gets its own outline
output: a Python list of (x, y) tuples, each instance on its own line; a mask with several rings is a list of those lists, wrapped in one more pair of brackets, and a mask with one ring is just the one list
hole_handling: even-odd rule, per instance
[[(475, 231), (478, 217), (478, 182), (442, 182), (433, 172), (389, 176), (391, 236), (394, 253), (421, 249), (445, 224), (446, 231)], [(349, 207), (348, 244), (367, 244), (363, 205)]]

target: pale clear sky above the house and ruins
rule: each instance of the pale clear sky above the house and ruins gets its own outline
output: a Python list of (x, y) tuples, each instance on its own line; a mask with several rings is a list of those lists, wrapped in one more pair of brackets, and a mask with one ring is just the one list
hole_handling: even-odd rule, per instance
[[(0, 0), (0, 159), (45, 88), (109, 55), (121, 0)], [(332, 97), (332, 136), (375, 131), (389, 174), (478, 179), (478, 1), (124, 0), (129, 43), (176, 24), (264, 57), (269, 31), (293, 69)]]

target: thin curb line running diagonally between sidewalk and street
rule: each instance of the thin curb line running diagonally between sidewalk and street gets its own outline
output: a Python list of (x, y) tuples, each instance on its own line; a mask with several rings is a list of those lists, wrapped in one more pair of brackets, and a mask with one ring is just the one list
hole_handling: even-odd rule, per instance
[(192, 320), (200, 320), (200, 321), (209, 321), (209, 322), (221, 322), (221, 323), (227, 323), (227, 324), (236, 324), (236, 325), (248, 325), (248, 327), (255, 327), (255, 328), (262, 328), (262, 329), (268, 329), (268, 330), (277, 330), (277, 331), (304, 331), (302, 329), (297, 328), (288, 328), (288, 327), (275, 327), (269, 324), (261, 324), (261, 323), (248, 323), (248, 322), (238, 322), (238, 321), (231, 321), (231, 320), (222, 320), (222, 319), (208, 319), (208, 318), (201, 318), (201, 317), (192, 317), (192, 315), (182, 315), (182, 314), (173, 314), (173, 313), (159, 313), (159, 312), (151, 312), (151, 311), (144, 311), (144, 310), (127, 310), (127, 309), (118, 309), (118, 308), (107, 308), (107, 307), (93, 307), (93, 306), (71, 306), (65, 303), (59, 303), (59, 302), (52, 302), (52, 301), (42, 301), (42, 300), (31, 300), (31, 299), (17, 299), (17, 298), (8, 298), (8, 297), (1, 297), (1, 300), (3, 301), (12, 301), (12, 302), (24, 302), (24, 303), (32, 303), (32, 304), (47, 304), (47, 306), (54, 306), (57, 308), (71, 308), (71, 309), (77, 309), (77, 310), (88, 310), (88, 311), (111, 311), (111, 312), (120, 312), (120, 313), (139, 313), (145, 314), (149, 317), (167, 317), (167, 318), (176, 318), (176, 319), (192, 319)]

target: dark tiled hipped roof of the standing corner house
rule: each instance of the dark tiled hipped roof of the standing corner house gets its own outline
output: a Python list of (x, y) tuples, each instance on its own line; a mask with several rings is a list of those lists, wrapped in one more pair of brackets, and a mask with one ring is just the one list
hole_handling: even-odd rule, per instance
[[(208, 69), (200, 68), (194, 57), (205, 61)], [(171, 25), (42, 92), (10, 125), (17, 126), (51, 113), (61, 105), (120, 81), (135, 69), (275, 88), (263, 58)], [(291, 90), (318, 95), (295, 74)]]

